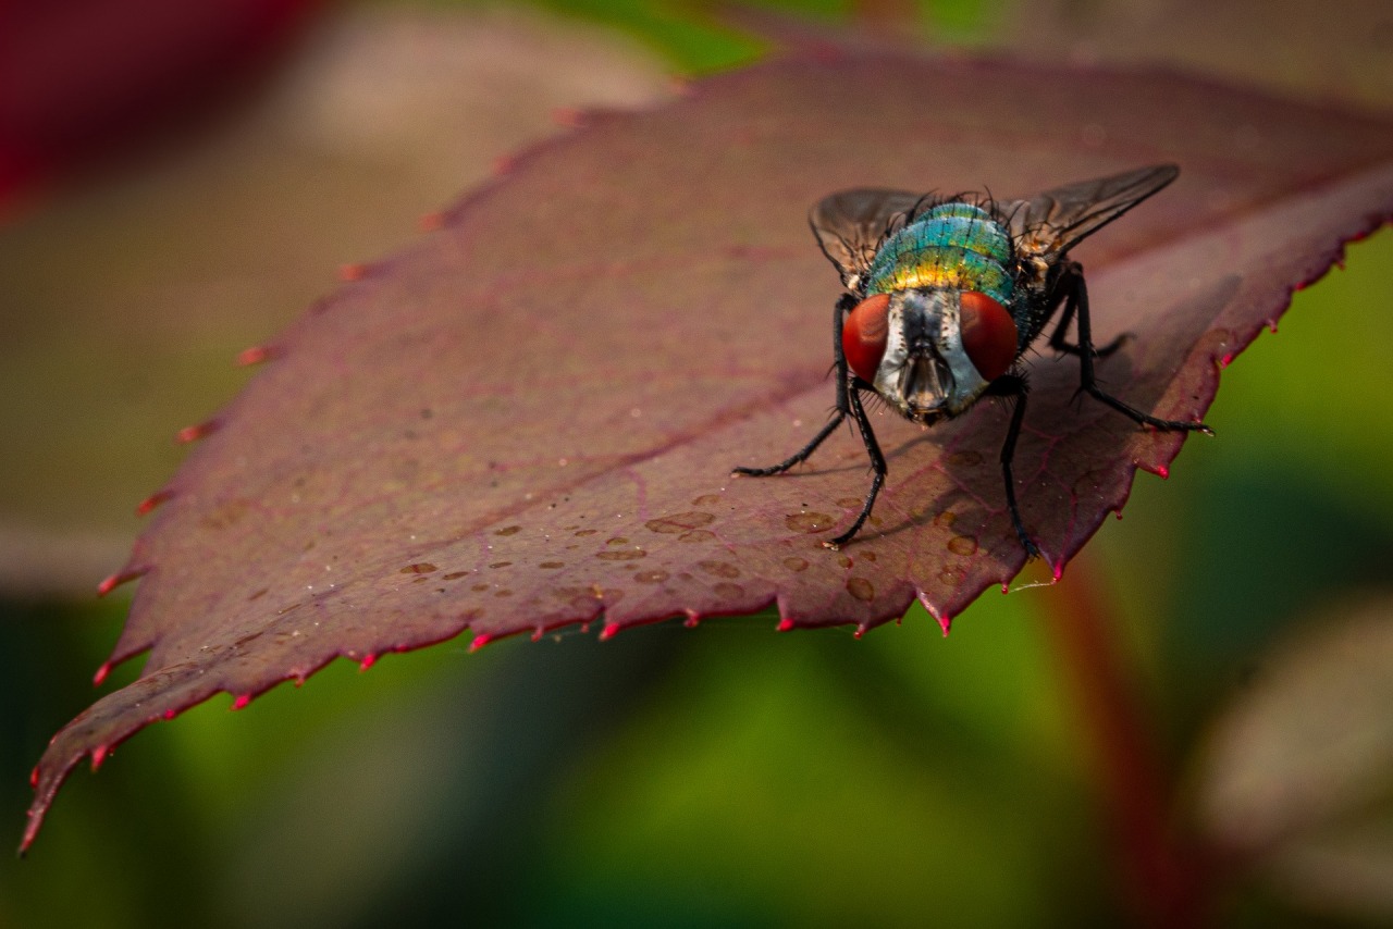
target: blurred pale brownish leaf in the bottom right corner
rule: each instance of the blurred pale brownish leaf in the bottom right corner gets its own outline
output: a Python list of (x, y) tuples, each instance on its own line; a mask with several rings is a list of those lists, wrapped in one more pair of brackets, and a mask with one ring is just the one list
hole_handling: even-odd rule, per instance
[(1393, 600), (1323, 610), (1219, 716), (1197, 812), (1231, 859), (1322, 911), (1393, 915)]

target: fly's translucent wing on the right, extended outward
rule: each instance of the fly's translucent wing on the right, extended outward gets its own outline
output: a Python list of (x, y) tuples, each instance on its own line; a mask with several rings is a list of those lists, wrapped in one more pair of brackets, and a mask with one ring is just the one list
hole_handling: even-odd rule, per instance
[(997, 203), (996, 212), (1009, 224), (1017, 251), (1057, 258), (1178, 174), (1180, 169), (1174, 164), (1152, 164), (1056, 187), (1028, 201)]

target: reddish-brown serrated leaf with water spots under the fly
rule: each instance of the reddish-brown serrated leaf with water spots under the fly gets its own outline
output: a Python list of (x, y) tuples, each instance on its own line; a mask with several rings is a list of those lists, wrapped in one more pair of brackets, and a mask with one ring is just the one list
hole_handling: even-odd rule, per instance
[[(121, 572), (145, 579), (111, 660), (149, 649), (146, 669), (59, 733), (25, 844), (84, 755), (338, 655), (770, 603), (784, 625), (869, 628), (915, 596), (947, 628), (1024, 560), (1004, 409), (928, 433), (873, 415), (890, 479), (840, 553), (820, 540), (868, 486), (853, 435), (797, 474), (729, 478), (800, 447), (832, 403), (839, 288), (808, 205), (864, 184), (1009, 198), (1178, 162), (1077, 256), (1095, 336), (1135, 334), (1099, 368), (1109, 389), (1192, 418), (1291, 290), (1393, 212), (1389, 128), (1176, 75), (883, 50), (591, 116), (272, 345)], [(1032, 379), (1018, 493), (1057, 570), (1183, 436), (1073, 404), (1071, 359)]]

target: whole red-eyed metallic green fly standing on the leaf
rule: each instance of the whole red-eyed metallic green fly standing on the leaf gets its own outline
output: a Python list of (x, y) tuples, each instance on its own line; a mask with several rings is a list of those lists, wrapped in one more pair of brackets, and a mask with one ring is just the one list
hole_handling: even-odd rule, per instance
[[(1117, 351), (1127, 336), (1094, 345), (1084, 267), (1068, 258), (1070, 248), (1178, 174), (1174, 164), (1156, 164), (1002, 203), (974, 194), (939, 199), (876, 188), (825, 198), (808, 220), (846, 287), (832, 320), (836, 411), (786, 461), (736, 468), (736, 474), (784, 472), (851, 416), (871, 458), (872, 479), (851, 526), (823, 543), (836, 549), (871, 515), (887, 472), (862, 393), (879, 394), (901, 416), (925, 426), (961, 415), (982, 397), (1004, 397), (1014, 401), (1002, 444), (1006, 504), (1025, 553), (1038, 556), (1015, 504), (1011, 475), (1028, 393), (1020, 359), (1060, 306), (1064, 312), (1049, 344), (1078, 357), (1081, 391), (1138, 425), (1213, 435), (1202, 422), (1145, 414), (1098, 386), (1094, 359)], [(1077, 323), (1077, 343), (1066, 341), (1070, 323)]]

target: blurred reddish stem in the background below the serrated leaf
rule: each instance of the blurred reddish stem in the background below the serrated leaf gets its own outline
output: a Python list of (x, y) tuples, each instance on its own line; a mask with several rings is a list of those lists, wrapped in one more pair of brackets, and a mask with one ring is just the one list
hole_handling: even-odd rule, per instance
[(1172, 779), (1149, 713), (1131, 684), (1116, 637), (1120, 617), (1102, 574), (1096, 559), (1073, 560), (1068, 578), (1042, 600), (1050, 638), (1092, 744), (1095, 776), (1135, 923), (1202, 926), (1212, 916), (1204, 855), (1170, 822)]

